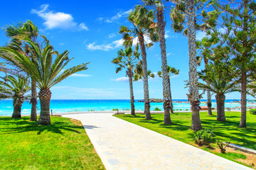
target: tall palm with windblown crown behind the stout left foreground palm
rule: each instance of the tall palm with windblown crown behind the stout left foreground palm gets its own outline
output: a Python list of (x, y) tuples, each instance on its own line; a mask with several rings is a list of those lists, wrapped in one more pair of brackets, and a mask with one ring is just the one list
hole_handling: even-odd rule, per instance
[[(18, 26), (7, 26), (5, 28), (6, 35), (9, 38), (12, 38), (11, 46), (16, 47), (16, 45), (13, 46), (14, 41), (17, 41), (18, 39), (22, 39), (24, 37), (30, 38), (33, 42), (37, 42), (38, 38), (38, 28), (33, 24), (32, 21), (26, 21), (26, 23), (19, 23)], [(20, 45), (21, 42), (19, 42)], [(26, 55), (33, 55), (33, 52), (29, 54), (29, 50), (26, 48)], [(33, 57), (31, 57), (31, 61), (33, 62)], [(37, 120), (37, 114), (36, 114), (36, 104), (37, 104), (37, 91), (36, 91), (36, 81), (31, 79), (31, 121)]]

